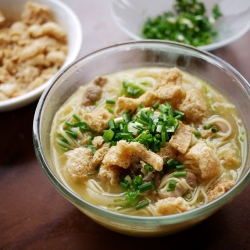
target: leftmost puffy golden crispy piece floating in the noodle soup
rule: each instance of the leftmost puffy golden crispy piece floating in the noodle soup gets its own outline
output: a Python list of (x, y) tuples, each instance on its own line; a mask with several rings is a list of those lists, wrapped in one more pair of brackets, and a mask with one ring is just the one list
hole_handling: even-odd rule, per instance
[(89, 148), (76, 148), (66, 153), (67, 162), (66, 169), (73, 178), (73, 180), (84, 180), (87, 174), (95, 171), (92, 166), (92, 151)]

